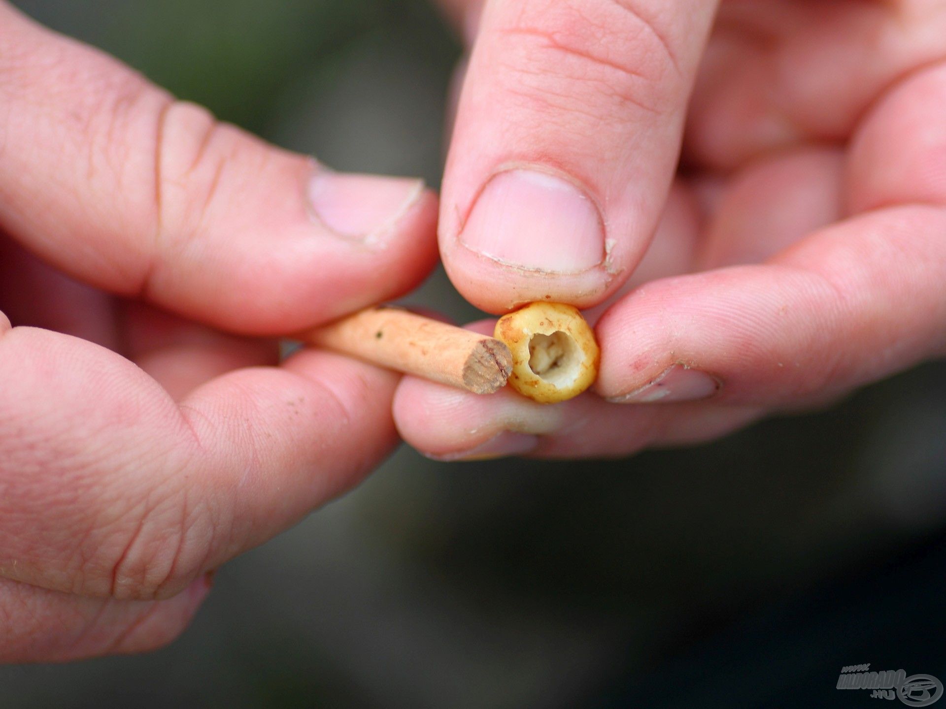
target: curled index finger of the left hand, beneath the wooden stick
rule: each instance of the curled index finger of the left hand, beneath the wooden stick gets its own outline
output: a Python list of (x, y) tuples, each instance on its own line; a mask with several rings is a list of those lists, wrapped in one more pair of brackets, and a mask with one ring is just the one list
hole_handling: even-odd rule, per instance
[(0, 575), (54, 590), (171, 596), (396, 441), (394, 374), (336, 355), (231, 372), (177, 406), (118, 355), (15, 328), (0, 372)]

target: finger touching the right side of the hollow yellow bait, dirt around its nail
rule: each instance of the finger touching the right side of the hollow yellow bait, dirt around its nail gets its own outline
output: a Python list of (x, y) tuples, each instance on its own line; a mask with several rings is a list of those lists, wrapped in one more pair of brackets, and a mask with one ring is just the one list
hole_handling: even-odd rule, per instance
[(946, 210), (899, 207), (815, 233), (765, 265), (647, 285), (599, 320), (597, 390), (804, 406), (944, 351)]

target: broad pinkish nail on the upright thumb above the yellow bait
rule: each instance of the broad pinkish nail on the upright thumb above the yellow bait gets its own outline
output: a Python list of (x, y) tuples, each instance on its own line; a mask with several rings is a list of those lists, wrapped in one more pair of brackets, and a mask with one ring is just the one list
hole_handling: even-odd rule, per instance
[(507, 266), (555, 273), (604, 261), (594, 202), (571, 182), (534, 170), (500, 172), (482, 190), (460, 242)]

